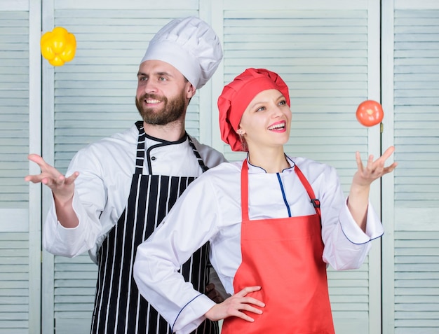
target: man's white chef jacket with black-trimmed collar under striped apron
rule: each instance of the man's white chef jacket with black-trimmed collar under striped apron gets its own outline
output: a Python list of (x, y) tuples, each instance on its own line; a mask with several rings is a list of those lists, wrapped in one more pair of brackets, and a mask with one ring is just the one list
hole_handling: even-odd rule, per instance
[[(67, 176), (80, 174), (75, 181), (73, 209), (79, 218), (76, 228), (64, 228), (58, 222), (52, 204), (43, 228), (43, 246), (55, 255), (77, 256), (89, 251), (96, 262), (96, 253), (109, 231), (119, 220), (130, 193), (135, 172), (139, 131), (136, 125), (128, 130), (101, 139), (81, 149), (70, 162)], [(207, 167), (224, 162), (224, 156), (192, 138)], [(152, 148), (156, 144), (161, 144)], [(148, 165), (150, 164), (150, 165)], [(194, 151), (187, 139), (163, 141), (146, 137), (144, 174), (199, 176), (202, 174)]]

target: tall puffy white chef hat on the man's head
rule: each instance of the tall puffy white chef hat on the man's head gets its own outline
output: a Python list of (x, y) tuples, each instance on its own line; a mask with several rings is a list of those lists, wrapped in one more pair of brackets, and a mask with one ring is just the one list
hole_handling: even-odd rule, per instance
[(142, 62), (145, 60), (167, 62), (201, 88), (221, 62), (222, 48), (210, 25), (191, 16), (172, 20), (161, 28), (149, 42)]

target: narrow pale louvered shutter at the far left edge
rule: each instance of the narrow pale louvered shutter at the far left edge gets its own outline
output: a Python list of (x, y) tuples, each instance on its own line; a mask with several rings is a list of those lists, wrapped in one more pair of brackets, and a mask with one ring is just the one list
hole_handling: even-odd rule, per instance
[(24, 181), (32, 141), (39, 142), (29, 125), (41, 111), (32, 96), (40, 94), (32, 85), (39, 57), (29, 46), (39, 18), (23, 1), (0, 3), (0, 333), (39, 332), (41, 187)]

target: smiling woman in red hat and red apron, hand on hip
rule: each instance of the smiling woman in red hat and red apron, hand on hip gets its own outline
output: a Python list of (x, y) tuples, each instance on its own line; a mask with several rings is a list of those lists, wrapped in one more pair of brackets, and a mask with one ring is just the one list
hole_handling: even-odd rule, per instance
[[(266, 69), (247, 69), (218, 99), (222, 139), (243, 162), (223, 163), (189, 186), (137, 249), (140, 292), (189, 333), (203, 319), (225, 319), (222, 333), (335, 333), (326, 267), (360, 267), (383, 229), (368, 200), (370, 184), (392, 172), (389, 148), (358, 171), (344, 198), (333, 167), (290, 158), (288, 87)], [(178, 272), (210, 241), (210, 260), (231, 297), (215, 304)]]

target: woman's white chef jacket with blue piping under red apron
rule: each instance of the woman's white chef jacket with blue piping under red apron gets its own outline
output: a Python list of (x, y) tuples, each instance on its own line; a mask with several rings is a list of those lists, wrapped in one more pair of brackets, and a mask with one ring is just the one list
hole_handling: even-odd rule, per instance
[[(369, 203), (363, 232), (353, 220), (335, 168), (306, 158), (288, 158), (290, 168), (266, 173), (250, 165), (249, 217), (285, 218), (316, 214), (295, 163), (320, 200), (323, 260), (336, 270), (360, 267), (370, 240), (384, 230)], [(134, 277), (140, 293), (174, 324), (176, 333), (190, 333), (203, 321), (212, 300), (184, 282), (177, 272), (195, 249), (210, 241), (210, 261), (228, 293), (241, 264), (241, 162), (225, 162), (191, 183), (161, 226), (137, 248)], [(283, 190), (282, 190), (283, 189)], [(282, 254), (279, 254), (282, 256)], [(285, 263), (288, 265), (288, 263)]]

